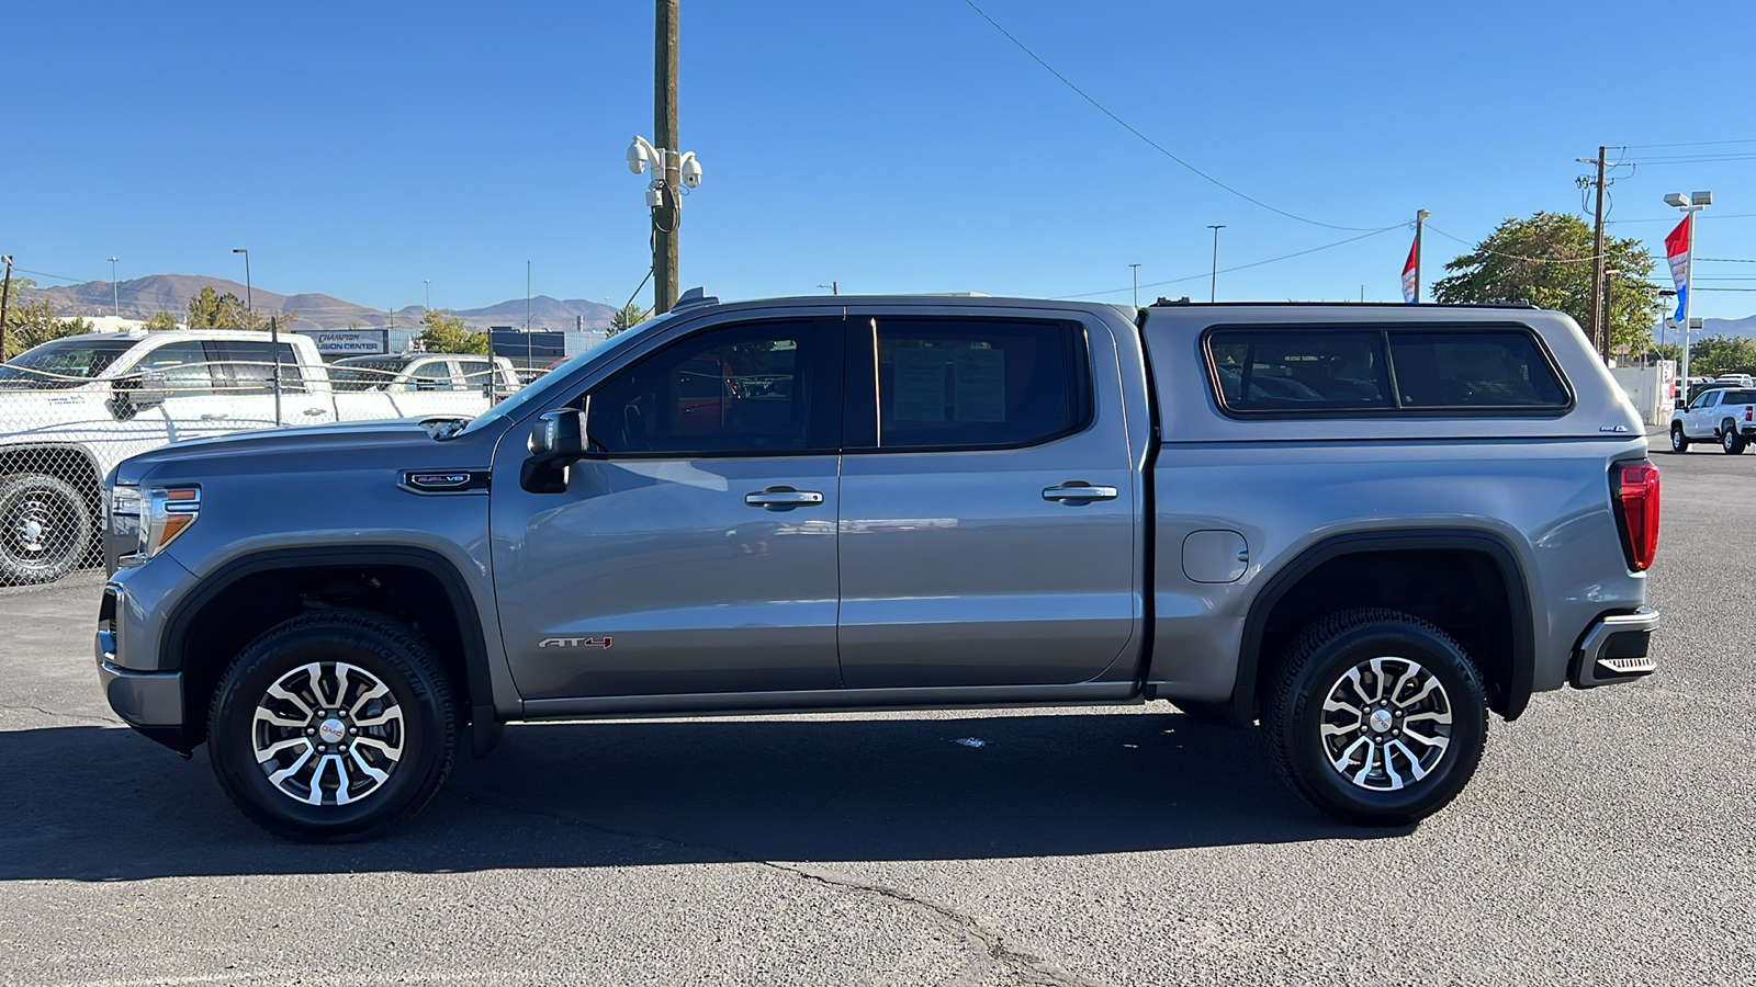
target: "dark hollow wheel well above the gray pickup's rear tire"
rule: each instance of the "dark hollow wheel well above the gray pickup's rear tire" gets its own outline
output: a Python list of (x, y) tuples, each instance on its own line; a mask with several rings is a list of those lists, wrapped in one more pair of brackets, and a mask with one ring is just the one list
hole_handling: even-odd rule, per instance
[[(1517, 592), (1522, 599), (1522, 587)], [(1529, 618), (1514, 599), (1501, 562), (1473, 548), (1366, 550), (1321, 562), (1287, 587), (1261, 622), (1256, 708), (1273, 688), (1275, 662), (1294, 634), (1338, 609), (1382, 606), (1450, 634), (1482, 673), (1489, 706), (1514, 718), (1529, 695), (1529, 669), (1519, 674), (1519, 625), (1522, 620), (1528, 632)]]

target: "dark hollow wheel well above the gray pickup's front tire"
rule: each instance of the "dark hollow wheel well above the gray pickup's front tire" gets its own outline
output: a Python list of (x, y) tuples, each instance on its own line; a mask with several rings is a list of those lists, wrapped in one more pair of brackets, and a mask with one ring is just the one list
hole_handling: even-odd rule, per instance
[[(302, 613), (369, 609), (400, 620), (432, 645), (441, 671), (457, 690), (460, 710), (472, 710), (471, 643), (451, 594), (439, 576), (420, 566), (297, 566), (248, 573), (172, 625), (172, 660), (181, 660), (184, 743), (193, 748), (207, 736), (207, 704), (232, 660), (263, 630)], [(177, 630), (181, 629), (181, 646)], [(486, 697), (474, 697), (486, 701)]]

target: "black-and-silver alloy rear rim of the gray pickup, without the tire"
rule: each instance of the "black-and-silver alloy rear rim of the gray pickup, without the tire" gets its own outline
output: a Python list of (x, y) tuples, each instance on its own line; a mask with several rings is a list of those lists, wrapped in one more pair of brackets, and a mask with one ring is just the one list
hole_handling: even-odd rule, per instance
[(1410, 659), (1370, 659), (1329, 688), (1322, 745), (1349, 782), (1394, 792), (1433, 773), (1450, 746), (1450, 697)]

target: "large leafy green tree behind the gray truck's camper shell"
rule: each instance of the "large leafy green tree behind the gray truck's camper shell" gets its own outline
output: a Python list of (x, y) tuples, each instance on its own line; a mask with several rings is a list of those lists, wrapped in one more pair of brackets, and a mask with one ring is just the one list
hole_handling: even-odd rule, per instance
[[(1486, 241), (1445, 265), (1433, 299), (1447, 304), (1528, 302), (1556, 309), (1591, 332), (1591, 227), (1579, 216), (1536, 213), (1507, 220)], [(1652, 256), (1637, 239), (1603, 239), (1610, 274), (1610, 355), (1638, 353), (1658, 320)]]

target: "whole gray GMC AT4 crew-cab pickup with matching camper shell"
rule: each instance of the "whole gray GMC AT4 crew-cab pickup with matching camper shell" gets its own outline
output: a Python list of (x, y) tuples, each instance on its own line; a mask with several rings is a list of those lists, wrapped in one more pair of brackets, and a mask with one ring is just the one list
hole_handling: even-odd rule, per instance
[(1658, 494), (1558, 313), (688, 295), (467, 425), (123, 462), (97, 662), (307, 839), (509, 720), (1159, 699), (1405, 824), (1656, 669)]

